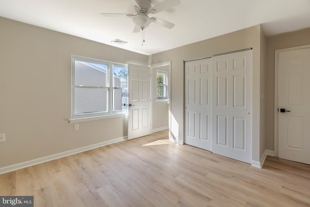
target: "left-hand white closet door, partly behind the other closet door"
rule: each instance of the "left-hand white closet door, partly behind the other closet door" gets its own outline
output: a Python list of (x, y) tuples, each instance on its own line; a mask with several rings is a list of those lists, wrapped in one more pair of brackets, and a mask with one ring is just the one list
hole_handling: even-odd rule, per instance
[(211, 58), (185, 63), (185, 143), (211, 151)]

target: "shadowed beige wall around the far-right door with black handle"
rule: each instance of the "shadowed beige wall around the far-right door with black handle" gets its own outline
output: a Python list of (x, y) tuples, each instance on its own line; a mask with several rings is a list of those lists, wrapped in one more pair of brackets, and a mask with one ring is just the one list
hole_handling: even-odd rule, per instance
[(275, 50), (310, 45), (310, 28), (267, 37), (266, 113), (272, 114), (266, 124), (266, 147), (274, 150)]

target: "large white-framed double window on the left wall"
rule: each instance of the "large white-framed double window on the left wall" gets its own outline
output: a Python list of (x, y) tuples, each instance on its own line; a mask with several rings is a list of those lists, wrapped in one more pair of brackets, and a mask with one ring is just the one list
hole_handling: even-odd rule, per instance
[(72, 56), (72, 118), (127, 113), (127, 65)]

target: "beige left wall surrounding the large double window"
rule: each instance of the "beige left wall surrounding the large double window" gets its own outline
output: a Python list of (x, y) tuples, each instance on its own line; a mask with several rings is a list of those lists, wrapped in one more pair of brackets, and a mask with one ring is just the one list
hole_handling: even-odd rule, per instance
[(142, 65), (148, 56), (2, 17), (0, 28), (0, 167), (127, 136), (126, 117), (68, 123), (71, 55)]

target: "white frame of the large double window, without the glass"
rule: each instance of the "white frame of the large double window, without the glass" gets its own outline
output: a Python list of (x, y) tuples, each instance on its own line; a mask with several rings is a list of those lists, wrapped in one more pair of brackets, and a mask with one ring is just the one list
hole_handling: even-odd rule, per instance
[[(76, 86), (75, 85), (75, 61), (82, 61), (82, 62), (88, 62), (88, 63), (96, 63), (96, 64), (105, 64), (107, 65), (107, 73), (106, 73), (106, 86)], [(113, 83), (113, 66), (118, 66), (118, 67), (124, 67), (128, 71), (128, 65), (127, 64), (120, 64), (120, 63), (114, 63), (114, 62), (109, 62), (109, 61), (104, 61), (104, 60), (99, 60), (99, 59), (93, 59), (93, 58), (87, 58), (87, 57), (82, 57), (82, 56), (77, 56), (77, 55), (71, 55), (71, 120), (77, 120), (77, 119), (90, 119), (94, 117), (114, 117), (115, 115), (127, 115), (128, 114), (128, 109), (127, 110), (119, 110), (115, 111), (113, 109), (113, 90), (114, 89), (123, 89), (124, 87), (114, 87)], [(127, 76), (127, 84), (128, 84), (128, 76)], [(80, 113), (80, 114), (75, 114), (75, 89), (76, 88), (98, 88), (98, 89), (107, 89), (108, 91), (108, 100), (107, 100), (107, 111), (106, 112), (92, 112), (92, 113)]]

